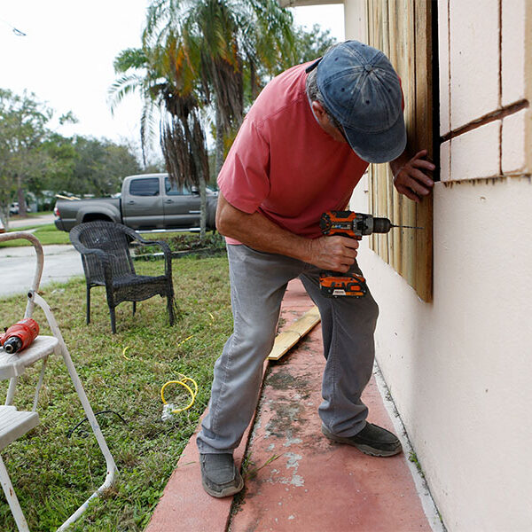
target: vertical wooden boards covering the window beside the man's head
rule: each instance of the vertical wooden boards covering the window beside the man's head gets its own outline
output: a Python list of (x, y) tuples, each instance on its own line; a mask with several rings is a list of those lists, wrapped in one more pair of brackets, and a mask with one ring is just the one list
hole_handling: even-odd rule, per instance
[[(431, 7), (430, 0), (367, 0), (368, 43), (387, 54), (403, 83), (404, 118), (411, 153), (426, 148), (432, 159)], [(396, 224), (424, 228), (422, 231), (393, 229), (387, 235), (373, 235), (371, 246), (406, 279), (423, 301), (431, 301), (432, 194), (420, 205), (416, 204), (395, 191), (387, 164), (372, 165), (370, 202), (373, 215), (387, 216)]]

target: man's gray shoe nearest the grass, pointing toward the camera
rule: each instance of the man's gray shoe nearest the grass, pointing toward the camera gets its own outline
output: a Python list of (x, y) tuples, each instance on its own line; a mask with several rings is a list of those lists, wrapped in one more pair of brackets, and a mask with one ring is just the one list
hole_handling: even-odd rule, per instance
[(200, 454), (201, 482), (211, 497), (230, 497), (244, 488), (232, 454)]

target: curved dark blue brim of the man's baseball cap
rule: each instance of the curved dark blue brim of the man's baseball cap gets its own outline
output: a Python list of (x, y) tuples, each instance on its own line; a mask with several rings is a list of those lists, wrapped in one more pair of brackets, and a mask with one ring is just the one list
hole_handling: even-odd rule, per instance
[(399, 113), (395, 124), (386, 131), (368, 133), (345, 127), (344, 131), (353, 151), (367, 162), (379, 163), (395, 160), (406, 148), (403, 113)]

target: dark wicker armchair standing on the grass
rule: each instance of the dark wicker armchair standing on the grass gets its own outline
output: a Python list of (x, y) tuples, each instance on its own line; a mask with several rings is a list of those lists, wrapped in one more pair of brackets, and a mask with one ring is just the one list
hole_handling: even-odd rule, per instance
[[(87, 282), (87, 324), (90, 323), (90, 289), (93, 286), (105, 286), (113, 333), (116, 332), (114, 309), (117, 305), (122, 301), (133, 301), (135, 315), (137, 301), (144, 301), (157, 294), (167, 298), (170, 325), (174, 325), (172, 254), (166, 242), (145, 240), (136, 231), (121, 223), (103, 220), (74, 226), (70, 231), (70, 240), (82, 254)], [(132, 240), (141, 246), (156, 244), (162, 248), (165, 258), (164, 275), (137, 275), (129, 254), (129, 244)]]

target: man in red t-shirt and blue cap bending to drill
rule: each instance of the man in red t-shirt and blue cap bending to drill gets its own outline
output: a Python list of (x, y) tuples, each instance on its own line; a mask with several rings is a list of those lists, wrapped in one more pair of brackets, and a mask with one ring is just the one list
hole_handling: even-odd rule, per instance
[(387, 162), (396, 189), (419, 201), (434, 165), (406, 152), (403, 94), (386, 56), (348, 41), (272, 80), (246, 115), (218, 184), (216, 225), (227, 240), (234, 331), (215, 364), (210, 408), (198, 435), (203, 487), (213, 497), (243, 488), (232, 452), (257, 402), (286, 284), (301, 278), (317, 304), (325, 349), (322, 432), (373, 456), (401, 451), (366, 421), (360, 395), (372, 375), (379, 308), (364, 297), (326, 298), (321, 270), (361, 273), (358, 242), (323, 237), (319, 219), (348, 205), (368, 162)]

